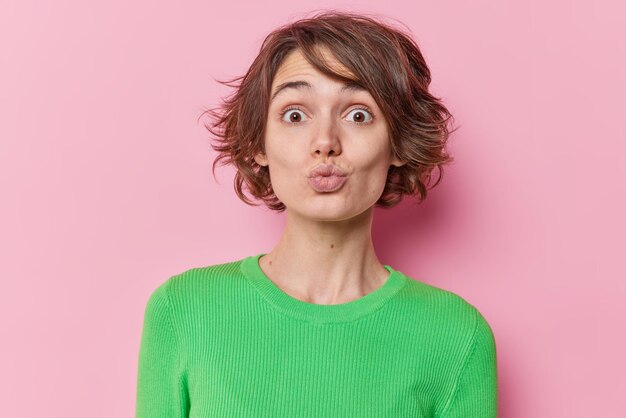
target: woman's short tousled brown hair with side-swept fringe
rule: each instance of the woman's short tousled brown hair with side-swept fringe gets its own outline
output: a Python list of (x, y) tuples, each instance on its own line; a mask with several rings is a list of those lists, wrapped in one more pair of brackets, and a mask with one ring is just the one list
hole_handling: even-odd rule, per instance
[(433, 169), (438, 167), (440, 173), (435, 187), (443, 177), (443, 165), (453, 161), (445, 147), (456, 130), (448, 126), (454, 118), (441, 99), (428, 91), (430, 70), (409, 32), (367, 14), (326, 10), (279, 27), (267, 35), (245, 75), (218, 80), (236, 90), (220, 107), (203, 112), (211, 116), (205, 127), (216, 137), (216, 144), (211, 144), (218, 152), (213, 176), (219, 161), (225, 160), (221, 165), (232, 163), (237, 168), (234, 187), (241, 200), (258, 206), (244, 194), (245, 183), (270, 209), (286, 209), (274, 194), (269, 168), (257, 164), (254, 156), (264, 153), (272, 81), (290, 52), (299, 49), (322, 73), (349, 81), (327, 65), (320, 46), (328, 48), (356, 76), (351, 81), (364, 86), (376, 100), (388, 122), (392, 151), (405, 163), (389, 167), (376, 206), (390, 208), (403, 195), (416, 194), (421, 203)]

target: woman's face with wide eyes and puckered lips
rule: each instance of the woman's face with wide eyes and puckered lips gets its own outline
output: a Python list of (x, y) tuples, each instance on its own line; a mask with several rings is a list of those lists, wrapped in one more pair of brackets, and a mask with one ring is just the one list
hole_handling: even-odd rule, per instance
[[(325, 58), (340, 74), (351, 76), (327, 51)], [(298, 50), (279, 67), (271, 92), (265, 155), (256, 155), (255, 161), (269, 167), (274, 193), (287, 211), (339, 221), (372, 207), (389, 166), (402, 164), (392, 156), (387, 122), (369, 92), (329, 78)], [(345, 173), (341, 187), (320, 189), (338, 178), (310, 183), (311, 170), (320, 164)]]

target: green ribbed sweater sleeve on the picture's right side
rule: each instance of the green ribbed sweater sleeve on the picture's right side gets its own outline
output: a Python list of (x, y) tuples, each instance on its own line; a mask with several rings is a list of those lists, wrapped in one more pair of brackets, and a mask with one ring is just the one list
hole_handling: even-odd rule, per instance
[(441, 418), (496, 418), (498, 382), (493, 332), (477, 313), (472, 345)]

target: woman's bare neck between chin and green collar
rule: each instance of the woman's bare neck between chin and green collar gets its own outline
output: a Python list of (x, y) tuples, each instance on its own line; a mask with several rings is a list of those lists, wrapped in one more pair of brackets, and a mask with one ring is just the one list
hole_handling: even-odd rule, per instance
[(371, 209), (347, 221), (287, 217), (274, 249), (259, 259), (263, 272), (285, 293), (305, 302), (333, 305), (358, 299), (389, 276), (371, 239)]

